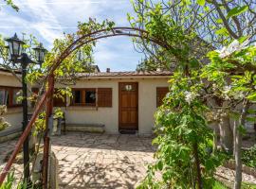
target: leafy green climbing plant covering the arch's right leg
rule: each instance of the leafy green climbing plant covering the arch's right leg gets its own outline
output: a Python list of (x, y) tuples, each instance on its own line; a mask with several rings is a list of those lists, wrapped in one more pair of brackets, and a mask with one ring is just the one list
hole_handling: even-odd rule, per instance
[(213, 152), (213, 134), (204, 115), (208, 108), (198, 98), (203, 84), (197, 72), (191, 77), (174, 73), (169, 82), (170, 93), (155, 113), (157, 161), (140, 188), (210, 188), (222, 156)]

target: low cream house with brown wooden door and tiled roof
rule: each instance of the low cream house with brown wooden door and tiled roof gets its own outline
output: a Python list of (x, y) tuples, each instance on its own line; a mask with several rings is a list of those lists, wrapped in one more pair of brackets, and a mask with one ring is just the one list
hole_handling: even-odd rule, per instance
[[(99, 68), (98, 68), (99, 69)], [(171, 72), (98, 72), (80, 74), (72, 88), (73, 96), (65, 101), (54, 99), (55, 107), (62, 107), (67, 129), (78, 126), (103, 126), (108, 133), (137, 130), (138, 134), (151, 134), (154, 113), (168, 92)], [(0, 90), (8, 91), (7, 120), (21, 124), (20, 104), (13, 104), (20, 84), (9, 73), (0, 71)], [(15, 81), (14, 81), (15, 80)], [(65, 87), (56, 85), (56, 88)], [(0, 94), (3, 104), (3, 95)], [(0, 99), (0, 100), (1, 100)], [(11, 104), (12, 102), (12, 104)], [(12, 110), (16, 111), (12, 114)]]

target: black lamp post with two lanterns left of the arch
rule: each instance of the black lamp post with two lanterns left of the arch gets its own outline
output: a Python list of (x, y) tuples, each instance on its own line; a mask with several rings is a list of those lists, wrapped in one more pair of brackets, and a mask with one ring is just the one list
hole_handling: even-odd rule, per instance
[[(27, 54), (23, 50), (23, 41), (18, 39), (17, 34), (15, 33), (13, 37), (6, 40), (9, 43), (9, 59), (15, 63), (21, 63), (22, 66), (22, 91), (23, 91), (23, 131), (27, 127), (27, 65), (29, 63), (42, 64), (45, 60), (46, 49), (43, 47), (42, 43), (39, 46), (33, 48), (35, 51), (36, 61), (30, 60)], [(29, 138), (25, 140), (23, 144), (23, 157), (24, 157), (24, 180), (29, 181)]]

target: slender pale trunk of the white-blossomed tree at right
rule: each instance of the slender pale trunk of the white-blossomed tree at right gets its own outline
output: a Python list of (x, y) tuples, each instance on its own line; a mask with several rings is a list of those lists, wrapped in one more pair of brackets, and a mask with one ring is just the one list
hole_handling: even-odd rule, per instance
[(234, 136), (234, 158), (235, 158), (235, 181), (234, 181), (234, 189), (241, 189), (242, 185), (242, 160), (241, 160), (241, 147), (242, 147), (242, 133), (239, 131), (239, 127), (245, 126), (247, 110), (249, 104), (247, 99), (243, 102), (243, 109), (240, 115), (238, 123), (235, 122), (234, 129), (236, 135)]

